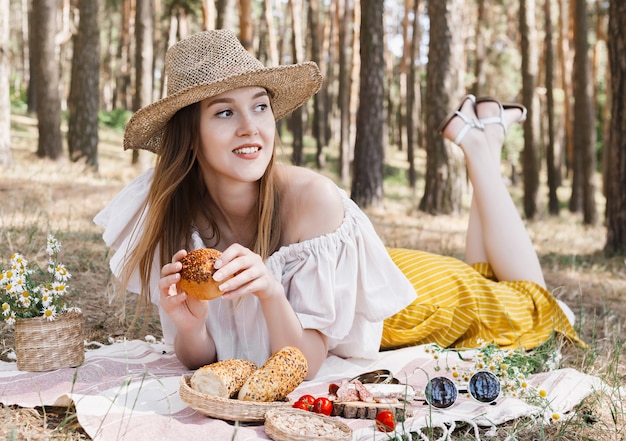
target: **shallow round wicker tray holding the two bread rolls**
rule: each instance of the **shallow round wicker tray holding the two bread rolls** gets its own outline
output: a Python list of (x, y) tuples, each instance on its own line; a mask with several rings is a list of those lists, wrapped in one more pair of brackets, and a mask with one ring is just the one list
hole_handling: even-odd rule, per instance
[(265, 412), (270, 409), (290, 409), (292, 403), (287, 401), (241, 401), (221, 398), (200, 393), (191, 388), (191, 375), (183, 375), (180, 379), (180, 398), (193, 410), (212, 418), (226, 421), (263, 422)]

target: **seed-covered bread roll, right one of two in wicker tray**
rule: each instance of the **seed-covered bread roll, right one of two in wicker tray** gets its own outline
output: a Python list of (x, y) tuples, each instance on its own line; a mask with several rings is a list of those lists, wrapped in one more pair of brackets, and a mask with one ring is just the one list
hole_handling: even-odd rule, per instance
[(298, 348), (286, 346), (252, 373), (237, 398), (247, 401), (282, 400), (304, 381), (307, 371), (304, 354)]

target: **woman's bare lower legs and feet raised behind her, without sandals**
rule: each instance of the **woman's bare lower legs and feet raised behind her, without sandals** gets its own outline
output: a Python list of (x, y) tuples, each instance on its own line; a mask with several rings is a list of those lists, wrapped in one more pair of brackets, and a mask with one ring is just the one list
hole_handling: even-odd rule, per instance
[[(484, 102), (478, 106), (480, 118), (497, 116), (499, 105)], [(473, 105), (466, 101), (462, 112), (476, 118)], [(517, 112), (517, 113), (516, 113)], [(518, 110), (507, 110), (505, 122), (519, 119)], [(444, 136), (454, 139), (463, 127), (454, 118), (445, 127)], [(519, 216), (517, 207), (502, 180), (500, 151), (504, 128), (498, 124), (473, 128), (461, 141), (470, 182), (474, 188), (466, 242), (468, 263), (488, 262), (502, 281), (531, 280), (545, 286), (539, 259)]]

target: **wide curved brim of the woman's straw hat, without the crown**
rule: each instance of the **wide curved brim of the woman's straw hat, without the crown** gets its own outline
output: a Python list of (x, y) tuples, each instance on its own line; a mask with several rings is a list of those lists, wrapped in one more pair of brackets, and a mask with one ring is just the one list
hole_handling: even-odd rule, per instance
[(207, 84), (183, 89), (138, 110), (126, 124), (124, 150), (144, 149), (158, 153), (165, 125), (176, 112), (190, 104), (240, 87), (258, 86), (270, 94), (274, 119), (294, 111), (322, 86), (314, 62), (258, 69)]

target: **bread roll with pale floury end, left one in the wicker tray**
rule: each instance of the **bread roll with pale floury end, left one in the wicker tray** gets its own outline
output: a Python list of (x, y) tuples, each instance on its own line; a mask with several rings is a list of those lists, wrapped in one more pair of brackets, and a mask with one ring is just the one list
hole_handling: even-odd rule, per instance
[(191, 376), (191, 388), (203, 394), (230, 398), (257, 369), (258, 366), (249, 360), (218, 361), (196, 370)]

